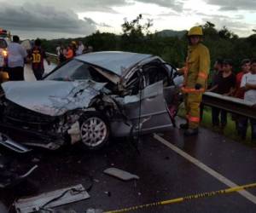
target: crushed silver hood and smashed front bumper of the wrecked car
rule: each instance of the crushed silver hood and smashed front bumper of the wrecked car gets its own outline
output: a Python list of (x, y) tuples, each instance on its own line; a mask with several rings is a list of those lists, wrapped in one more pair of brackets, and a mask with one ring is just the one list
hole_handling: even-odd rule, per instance
[[(44, 89), (50, 84), (55, 85), (55, 92)], [(60, 82), (3, 83), (0, 129), (4, 137), (0, 143), (10, 147), (9, 141), (13, 141), (17, 147), (15, 141), (18, 141), (22, 145), (57, 149), (81, 139), (79, 118), (84, 112), (95, 110), (90, 105), (97, 100), (98, 89), (102, 89), (104, 83), (61, 83), (59, 93), (58, 84)], [(37, 89), (44, 93), (38, 94)]]

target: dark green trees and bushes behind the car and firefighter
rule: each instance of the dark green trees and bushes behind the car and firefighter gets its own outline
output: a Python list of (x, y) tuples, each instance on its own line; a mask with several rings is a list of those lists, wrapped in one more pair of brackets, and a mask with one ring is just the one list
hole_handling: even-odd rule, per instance
[[(143, 20), (143, 16), (139, 14), (135, 20), (125, 20), (120, 35), (97, 31), (87, 37), (43, 39), (43, 46), (46, 51), (55, 54), (55, 48), (60, 43), (67, 45), (73, 40), (81, 40), (92, 46), (94, 51), (121, 50), (160, 55), (173, 66), (183, 66), (188, 45), (186, 31), (150, 32), (153, 24), (153, 20)], [(237, 72), (241, 59), (256, 57), (255, 30), (248, 37), (238, 37), (226, 26), (217, 30), (213, 23), (207, 21), (202, 27), (205, 34), (203, 43), (210, 49), (212, 63), (217, 58), (231, 59)]]

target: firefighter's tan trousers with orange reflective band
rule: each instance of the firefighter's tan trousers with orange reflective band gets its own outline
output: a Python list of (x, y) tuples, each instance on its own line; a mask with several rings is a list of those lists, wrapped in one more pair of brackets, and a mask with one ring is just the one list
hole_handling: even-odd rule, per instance
[(200, 123), (200, 104), (202, 93), (187, 93), (184, 95), (184, 105), (189, 129), (196, 129)]

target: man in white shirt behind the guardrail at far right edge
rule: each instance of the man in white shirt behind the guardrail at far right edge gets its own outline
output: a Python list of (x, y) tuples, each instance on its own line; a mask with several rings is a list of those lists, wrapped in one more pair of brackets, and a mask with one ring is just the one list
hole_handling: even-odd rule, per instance
[[(241, 78), (241, 89), (245, 91), (244, 100), (256, 104), (256, 59), (251, 61), (251, 71), (244, 74)], [(241, 134), (246, 135), (247, 119), (244, 121), (246, 128), (242, 130)], [(252, 141), (256, 141), (256, 120), (250, 119), (252, 126)]]

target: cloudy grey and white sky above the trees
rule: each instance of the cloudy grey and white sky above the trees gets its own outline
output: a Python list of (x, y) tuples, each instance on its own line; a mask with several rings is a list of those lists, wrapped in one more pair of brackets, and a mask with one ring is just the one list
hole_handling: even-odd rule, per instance
[(0, 27), (21, 38), (84, 37), (121, 32), (124, 19), (153, 20), (151, 31), (211, 21), (240, 37), (256, 29), (255, 0), (0, 0)]

